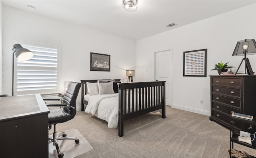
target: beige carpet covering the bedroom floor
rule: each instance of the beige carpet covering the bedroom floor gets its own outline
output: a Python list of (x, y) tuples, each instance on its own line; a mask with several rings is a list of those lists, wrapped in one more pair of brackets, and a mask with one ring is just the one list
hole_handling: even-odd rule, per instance
[[(75, 158), (229, 158), (229, 130), (209, 116), (166, 106), (166, 118), (149, 113), (124, 121), (124, 136), (107, 122), (77, 112), (57, 130), (77, 128), (93, 150)], [(239, 144), (235, 149), (256, 156), (256, 150)]]

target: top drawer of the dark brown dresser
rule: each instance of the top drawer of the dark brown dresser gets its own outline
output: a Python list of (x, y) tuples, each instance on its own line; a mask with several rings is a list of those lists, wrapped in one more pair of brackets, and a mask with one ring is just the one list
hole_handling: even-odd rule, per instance
[(240, 78), (212, 78), (212, 84), (240, 87)]

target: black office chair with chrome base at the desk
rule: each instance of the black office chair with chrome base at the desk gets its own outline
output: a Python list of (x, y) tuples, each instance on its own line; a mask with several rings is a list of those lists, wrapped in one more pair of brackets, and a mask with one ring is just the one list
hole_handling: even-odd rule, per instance
[[(54, 125), (54, 132), (52, 134), (52, 138), (49, 138), (48, 144), (53, 142), (53, 145), (56, 146), (56, 150), (59, 158), (62, 158), (64, 154), (60, 153), (61, 150), (58, 145), (58, 140), (70, 139), (70, 140), (75, 140), (76, 144), (79, 143), (79, 139), (77, 139), (76, 137), (67, 137), (67, 135), (64, 132), (56, 136), (57, 135), (56, 124), (71, 120), (76, 115), (76, 98), (80, 90), (80, 87), (81, 87), (81, 83), (70, 82), (68, 84), (66, 93), (63, 96), (63, 104), (48, 104), (48, 105), (46, 104), (47, 106), (63, 107), (59, 109), (50, 110), (50, 113), (48, 114), (49, 129), (52, 128), (52, 124)], [(45, 99), (45, 100), (51, 100), (51, 99)]]

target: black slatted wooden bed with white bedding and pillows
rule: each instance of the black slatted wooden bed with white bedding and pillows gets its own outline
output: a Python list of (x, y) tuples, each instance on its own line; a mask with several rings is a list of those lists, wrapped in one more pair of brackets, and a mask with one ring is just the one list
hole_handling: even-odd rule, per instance
[[(104, 82), (104, 83), (102, 83)], [(118, 126), (118, 136), (124, 135), (124, 120), (161, 110), (165, 118), (165, 81), (120, 83), (115, 80), (81, 80), (82, 109)], [(98, 89), (97, 89), (98, 88)]]

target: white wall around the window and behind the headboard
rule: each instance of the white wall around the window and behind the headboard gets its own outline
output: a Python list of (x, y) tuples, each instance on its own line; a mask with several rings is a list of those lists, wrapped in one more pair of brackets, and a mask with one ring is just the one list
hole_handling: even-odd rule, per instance
[[(16, 38), (60, 46), (62, 85), (87, 79), (126, 82), (125, 70), (136, 66), (134, 40), (3, 5), (3, 92), (8, 94), (12, 90), (12, 40)], [(90, 71), (90, 52), (109, 54), (110, 72)], [(77, 100), (80, 106), (80, 95)]]

